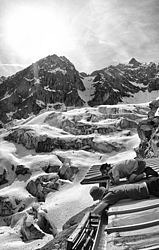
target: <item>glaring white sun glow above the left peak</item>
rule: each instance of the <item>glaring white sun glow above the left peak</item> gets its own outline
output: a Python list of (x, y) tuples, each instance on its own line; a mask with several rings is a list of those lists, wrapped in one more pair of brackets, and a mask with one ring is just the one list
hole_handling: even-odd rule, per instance
[(7, 17), (5, 32), (9, 46), (26, 58), (64, 53), (71, 47), (69, 25), (57, 9), (16, 8)]

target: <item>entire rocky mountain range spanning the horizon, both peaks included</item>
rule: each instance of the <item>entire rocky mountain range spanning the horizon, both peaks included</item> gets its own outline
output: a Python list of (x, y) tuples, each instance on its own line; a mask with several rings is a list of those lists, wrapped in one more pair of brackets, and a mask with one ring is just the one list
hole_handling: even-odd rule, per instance
[(67, 58), (52, 55), (3, 79), (0, 89), (4, 123), (36, 115), (56, 103), (82, 107), (149, 102), (159, 96), (159, 65), (132, 58), (128, 64), (87, 75)]

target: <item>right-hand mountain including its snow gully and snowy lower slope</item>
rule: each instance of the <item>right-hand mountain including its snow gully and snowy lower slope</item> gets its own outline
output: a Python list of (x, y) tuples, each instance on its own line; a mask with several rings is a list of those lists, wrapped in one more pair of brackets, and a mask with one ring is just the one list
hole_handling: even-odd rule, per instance
[(83, 83), (86, 91), (78, 92), (89, 106), (148, 102), (159, 95), (159, 65), (132, 58), (128, 64), (94, 71)]

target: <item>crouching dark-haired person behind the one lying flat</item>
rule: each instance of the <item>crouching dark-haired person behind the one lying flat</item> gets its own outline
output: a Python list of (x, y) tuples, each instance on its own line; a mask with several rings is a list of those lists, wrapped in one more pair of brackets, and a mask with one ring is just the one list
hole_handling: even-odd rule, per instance
[(120, 178), (127, 178), (128, 182), (133, 183), (148, 178), (158, 176), (158, 173), (151, 167), (146, 167), (146, 162), (140, 159), (128, 159), (116, 164), (104, 163), (100, 167), (102, 176), (109, 176), (112, 184), (118, 185)]

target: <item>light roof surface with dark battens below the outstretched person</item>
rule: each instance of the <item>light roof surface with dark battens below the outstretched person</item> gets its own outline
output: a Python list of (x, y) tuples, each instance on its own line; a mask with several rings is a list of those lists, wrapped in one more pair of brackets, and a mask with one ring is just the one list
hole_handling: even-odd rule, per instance
[(158, 218), (158, 198), (116, 203), (108, 210), (106, 249), (159, 249)]

